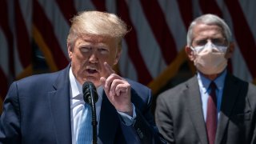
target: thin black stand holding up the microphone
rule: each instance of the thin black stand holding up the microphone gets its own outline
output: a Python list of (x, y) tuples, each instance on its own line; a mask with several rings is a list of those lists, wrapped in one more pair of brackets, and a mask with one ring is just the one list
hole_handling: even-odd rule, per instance
[(91, 106), (91, 113), (92, 113), (92, 126), (93, 126), (93, 144), (97, 144), (97, 117), (96, 117), (96, 106), (95, 106), (95, 92), (93, 89), (90, 89), (90, 94), (91, 94), (91, 97), (90, 97), (90, 106)]

